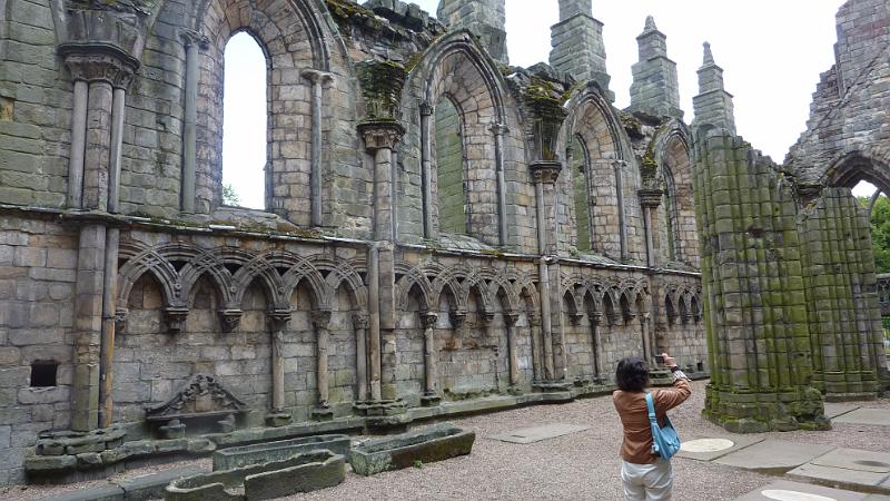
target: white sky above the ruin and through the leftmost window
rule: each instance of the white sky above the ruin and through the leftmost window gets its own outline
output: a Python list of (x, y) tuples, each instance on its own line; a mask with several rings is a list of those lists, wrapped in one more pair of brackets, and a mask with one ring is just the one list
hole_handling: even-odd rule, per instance
[[(438, 0), (416, 2), (435, 16)], [(834, 14), (842, 3), (843, 0), (593, 0), (593, 16), (605, 24), (610, 88), (619, 108), (630, 105), (631, 66), (639, 59), (636, 37), (643, 31), (645, 17), (652, 14), (668, 36), (669, 57), (678, 65), (685, 121), (693, 118), (695, 71), (706, 40), (716, 63), (724, 69), (726, 90), (734, 96), (738, 132), (781, 163), (807, 128), (819, 75), (834, 62)], [(547, 61), (550, 27), (558, 21), (556, 0), (506, 0), (506, 14), (511, 65), (528, 67)], [(245, 47), (250, 49), (249, 46), (233, 42), (226, 50), (227, 72), (233, 75), (234, 70), (238, 78), (226, 79), (226, 97), (237, 99), (226, 100), (224, 183), (235, 186), (241, 205), (263, 207), (263, 176), (257, 169), (266, 160), (265, 134), (255, 131), (265, 131), (265, 62), (261, 52), (249, 57), (258, 63), (254, 68), (234, 69), (235, 61), (229, 59), (248, 59)], [(256, 84), (246, 85), (248, 77)], [(245, 86), (229, 88), (230, 84)], [(240, 109), (236, 110), (236, 106)], [(254, 146), (247, 144), (250, 136), (256, 138)], [(857, 194), (872, 191), (873, 188), (864, 188)]]

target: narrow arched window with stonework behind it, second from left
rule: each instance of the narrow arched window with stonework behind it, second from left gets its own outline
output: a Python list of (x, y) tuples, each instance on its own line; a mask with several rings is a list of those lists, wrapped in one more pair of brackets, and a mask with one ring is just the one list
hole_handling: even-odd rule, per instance
[(435, 132), (439, 230), (468, 235), (469, 214), (461, 114), (445, 96), (436, 104)]

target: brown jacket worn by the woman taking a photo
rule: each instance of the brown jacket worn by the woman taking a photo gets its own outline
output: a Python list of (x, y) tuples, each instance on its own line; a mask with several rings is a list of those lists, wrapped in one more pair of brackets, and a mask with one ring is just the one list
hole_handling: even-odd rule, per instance
[[(690, 394), (692, 387), (685, 379), (674, 381), (674, 387), (652, 390), (652, 402), (655, 404), (659, 424), (663, 425), (668, 411), (683, 403)], [(612, 393), (612, 401), (621, 416), (621, 424), (624, 425), (621, 456), (634, 464), (656, 462), (659, 456), (652, 453), (652, 429), (649, 426), (646, 394), (616, 390)]]

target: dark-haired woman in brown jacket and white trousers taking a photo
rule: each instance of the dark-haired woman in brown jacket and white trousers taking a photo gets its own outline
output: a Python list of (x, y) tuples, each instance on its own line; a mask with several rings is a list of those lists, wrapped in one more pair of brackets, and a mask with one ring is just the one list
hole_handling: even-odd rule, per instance
[[(668, 411), (689, 399), (692, 387), (673, 358), (666, 353), (660, 357), (674, 377), (673, 387), (652, 391), (655, 416), (659, 425), (663, 426)], [(645, 390), (649, 385), (649, 366), (645, 361), (639, 356), (623, 358), (615, 371), (615, 383), (619, 390), (612, 394), (612, 400), (624, 426), (621, 444), (624, 497), (630, 501), (670, 501), (674, 483), (671, 461), (659, 458), (652, 450)]]

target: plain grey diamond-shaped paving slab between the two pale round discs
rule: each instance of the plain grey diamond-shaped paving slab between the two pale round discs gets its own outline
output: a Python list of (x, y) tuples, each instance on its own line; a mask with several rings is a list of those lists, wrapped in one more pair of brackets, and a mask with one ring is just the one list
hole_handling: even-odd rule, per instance
[(728, 466), (767, 473), (783, 473), (832, 450), (831, 445), (764, 440), (714, 460)]

